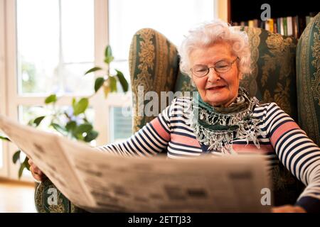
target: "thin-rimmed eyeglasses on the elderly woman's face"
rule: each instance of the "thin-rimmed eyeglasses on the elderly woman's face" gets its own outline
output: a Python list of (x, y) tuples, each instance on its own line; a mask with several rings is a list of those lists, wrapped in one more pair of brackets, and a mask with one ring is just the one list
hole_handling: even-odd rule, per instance
[(235, 63), (235, 61), (238, 59), (239, 59), (239, 57), (237, 57), (232, 62), (222, 60), (220, 62), (215, 63), (215, 65), (213, 67), (208, 67), (206, 65), (195, 65), (190, 69), (190, 71), (196, 77), (206, 76), (210, 72), (211, 68), (213, 68), (215, 70), (215, 72), (217, 72), (217, 73), (224, 73), (224, 72), (228, 72), (231, 69), (231, 67), (233, 66), (233, 63)]

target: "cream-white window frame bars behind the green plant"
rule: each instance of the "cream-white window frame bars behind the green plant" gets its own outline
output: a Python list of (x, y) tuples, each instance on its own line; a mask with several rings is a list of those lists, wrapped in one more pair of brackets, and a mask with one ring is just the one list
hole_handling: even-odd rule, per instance
[[(104, 50), (108, 43), (108, 1), (94, 0), (95, 16), (95, 65), (104, 65)], [(5, 12), (5, 13), (2, 13)], [(1, 79), (1, 114), (18, 119), (19, 105), (43, 105), (46, 96), (31, 96), (18, 94), (16, 75), (16, 1), (0, 0), (0, 79)], [(2, 48), (5, 46), (6, 48)], [(5, 56), (5, 57), (4, 57)], [(4, 61), (6, 60), (6, 61)], [(5, 83), (2, 83), (5, 82)], [(6, 89), (8, 88), (8, 89)], [(109, 141), (109, 109), (123, 94), (111, 94), (105, 99), (103, 92), (99, 92), (90, 100), (90, 105), (95, 110), (95, 129), (100, 133), (97, 145)], [(62, 96), (57, 106), (70, 105), (73, 96)], [(102, 108), (105, 106), (105, 108)], [(4, 143), (4, 167), (0, 176), (18, 179), (18, 165), (12, 163), (11, 157), (17, 150), (11, 143)], [(32, 181), (28, 176), (22, 180)]]

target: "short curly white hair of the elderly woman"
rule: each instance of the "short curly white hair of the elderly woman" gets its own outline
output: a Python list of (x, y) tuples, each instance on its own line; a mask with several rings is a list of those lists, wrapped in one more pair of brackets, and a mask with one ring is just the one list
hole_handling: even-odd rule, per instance
[(233, 55), (239, 57), (238, 69), (242, 74), (250, 73), (250, 47), (247, 34), (238, 31), (221, 20), (201, 24), (189, 31), (179, 49), (180, 70), (191, 77), (189, 56), (198, 48), (206, 48), (215, 43), (225, 42), (232, 47)]

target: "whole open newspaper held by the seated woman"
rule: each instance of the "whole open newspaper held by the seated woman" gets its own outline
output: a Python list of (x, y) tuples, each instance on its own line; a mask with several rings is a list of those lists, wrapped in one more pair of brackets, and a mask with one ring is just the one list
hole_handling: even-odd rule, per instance
[(121, 157), (22, 126), (0, 128), (75, 205), (97, 212), (268, 212), (266, 162), (257, 155), (183, 160)]

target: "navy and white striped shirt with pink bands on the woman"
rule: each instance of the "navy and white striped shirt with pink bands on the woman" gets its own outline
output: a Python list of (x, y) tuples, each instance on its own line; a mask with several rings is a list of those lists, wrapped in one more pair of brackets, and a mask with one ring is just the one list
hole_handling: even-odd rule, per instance
[[(122, 143), (100, 147), (100, 150), (122, 156), (153, 156), (166, 151), (170, 158), (188, 158), (203, 155), (203, 146), (196, 139), (187, 121), (190, 116), (190, 98), (177, 98), (150, 123)], [(260, 148), (253, 141), (235, 139), (233, 150), (239, 154), (267, 155), (270, 165), (279, 162), (306, 185), (297, 204), (306, 211), (320, 211), (320, 149), (308, 138), (294, 120), (275, 103), (258, 104), (253, 116), (260, 118), (264, 136), (258, 135)], [(212, 152), (212, 155), (221, 155)]]

